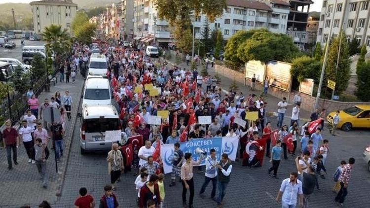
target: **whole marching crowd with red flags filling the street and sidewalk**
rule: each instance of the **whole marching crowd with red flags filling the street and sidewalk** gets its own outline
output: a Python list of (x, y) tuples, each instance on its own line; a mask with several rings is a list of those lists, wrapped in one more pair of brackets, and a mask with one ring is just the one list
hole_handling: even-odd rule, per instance
[[(74, 46), (74, 55), (70, 59), (74, 63), (73, 69), (70, 64), (67, 64), (68, 62), (65, 64), (68, 71), (71, 68), (71, 73), (75, 73), (74, 69), (80, 69), (80, 66), (88, 61), (88, 52), (83, 48), (79, 45)], [(113, 194), (116, 189), (115, 184), (120, 180), (122, 171), (126, 173), (131, 169), (139, 173), (135, 181), (138, 206), (157, 208), (164, 205), (165, 175), (160, 156), (160, 146), (163, 144), (174, 146), (169, 187), (176, 186), (179, 179), (182, 184), (183, 207), (193, 207), (193, 166), (199, 165), (202, 159), (205, 160), (206, 167), (205, 179), (199, 195), (201, 198), (205, 197), (206, 187), (212, 181), (211, 198), (218, 207), (222, 207), (232, 171), (232, 162), (228, 155), (222, 154), (221, 157), (219, 156), (221, 160), (217, 161), (216, 150), (211, 149), (208, 157), (199, 157), (198, 161), (194, 161), (191, 153), (184, 153), (180, 149), (181, 142), (187, 140), (219, 137), (239, 138), (240, 151), (237, 161), (241, 160), (244, 166), (249, 166), (251, 169), (260, 167), (262, 161), (252, 156), (252, 151), (260, 150), (253, 149), (254, 147), (248, 147), (250, 153), (246, 157), (245, 152), (249, 146), (247, 144), (250, 141), (259, 142), (264, 139), (265, 144), (261, 145), (261, 149), (265, 151), (265, 156), (270, 158), (271, 167), (268, 173), (273, 172), (274, 178), (278, 178), (277, 172), (282, 158), (287, 159), (288, 154), (295, 156), (296, 172), (292, 172), (290, 178), (283, 180), (276, 201), (281, 199), (283, 208), (293, 208), (296, 207), (295, 196), (299, 195), (300, 206), (308, 208), (310, 194), (315, 187), (320, 190), (319, 178), (325, 178), (326, 173), (329, 140), (323, 139), (321, 135), (325, 109), (321, 113), (318, 110), (314, 112), (311, 115), (311, 122), (299, 125), (301, 98), (297, 95), (294, 98), (295, 107), (288, 126), (284, 124), (288, 104), (283, 98), (277, 106), (278, 129), (274, 130), (271, 123), (267, 121), (267, 103), (264, 102), (263, 96), (250, 94), (244, 97), (243, 93), (237, 93), (233, 89), (228, 93), (222, 93), (222, 89), (217, 87), (217, 77), (202, 76), (197, 69), (190, 71), (177, 66), (171, 67), (166, 60), (152, 59), (142, 50), (120, 46), (111, 48), (106, 44), (100, 44), (100, 49), (107, 59), (109, 66), (107, 77), (114, 90), (114, 99), (122, 122), (122, 139), (112, 144), (112, 149), (107, 156), (111, 184), (104, 187), (104, 194), (99, 203), (100, 208), (118, 207), (116, 195)], [(62, 81), (65, 74), (64, 68), (60, 69), (60, 72)], [(68, 76), (71, 73), (68, 72)], [(82, 73), (84, 74), (85, 71)], [(203, 88), (203, 83), (206, 88)], [(68, 119), (71, 118), (72, 97), (68, 91), (64, 96), (57, 92), (50, 99), (51, 102), (45, 99), (45, 103), (40, 107), (31, 92), (32, 89), (27, 93), (27, 96), (30, 96), (28, 102), (30, 110), (24, 117), (23, 127), (17, 132), (11, 127), (10, 122), (7, 123), (7, 128), (3, 131), (3, 141), (8, 153), (9, 170), (12, 169), (11, 149), (14, 153), (14, 164), (17, 165), (16, 147), (22, 140), (29, 157), (28, 162), (37, 164), (38, 171), (43, 177), (42, 186), (46, 188), (44, 170), (49, 154), (46, 147), (47, 141), (50, 137), (55, 140), (53, 144), (55, 143), (57, 159), (59, 155), (63, 156), (66, 122), (64, 115), (67, 114)], [(267, 89), (264, 89), (264, 93), (267, 93)], [(40, 117), (37, 118), (38, 109), (42, 111), (45, 109), (44, 105), (55, 105), (61, 112), (61, 120), (49, 126), (42, 122), (41, 112)], [(148, 124), (149, 116), (157, 116), (158, 112), (163, 110), (168, 111), (168, 117), (163, 118), (160, 125)], [(247, 114), (250, 112), (257, 112), (256, 120), (247, 119)], [(211, 116), (212, 123), (198, 124), (200, 116)], [(245, 122), (244, 126), (236, 121), (240, 119)], [(334, 117), (334, 125), (337, 121), (339, 121), (338, 116)], [(319, 124), (321, 128), (318, 128)], [(51, 136), (47, 130), (52, 133)], [(335, 126), (333, 135), (334, 130)], [(21, 139), (17, 140), (18, 136)], [(298, 140), (300, 146), (298, 146)], [(133, 154), (127, 155), (127, 151), (124, 151), (126, 148), (130, 148)], [(347, 195), (347, 184), (354, 163), (353, 158), (350, 158), (348, 163), (342, 161), (333, 176), (336, 181), (333, 191), (337, 192), (335, 201), (341, 206)], [(198, 166), (197, 170), (203, 173), (202, 167)], [(186, 199), (187, 190), (190, 192), (189, 200)], [(81, 188), (79, 194), (80, 197), (74, 203), (76, 207), (95, 206), (94, 199), (87, 194), (86, 188)]]

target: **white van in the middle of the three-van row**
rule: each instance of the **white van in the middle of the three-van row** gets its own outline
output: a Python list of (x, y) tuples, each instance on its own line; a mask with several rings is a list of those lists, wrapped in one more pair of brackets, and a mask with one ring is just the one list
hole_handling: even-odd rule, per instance
[(109, 80), (103, 76), (88, 75), (81, 98), (83, 99), (82, 106), (112, 104)]

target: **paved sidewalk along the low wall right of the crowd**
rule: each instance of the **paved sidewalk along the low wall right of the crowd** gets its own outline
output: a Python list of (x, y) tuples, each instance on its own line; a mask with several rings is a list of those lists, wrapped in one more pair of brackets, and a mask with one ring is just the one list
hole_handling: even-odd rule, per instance
[[(175, 65), (175, 58), (168, 59), (167, 62), (171, 65)], [(189, 66), (186, 66), (185, 62), (183, 62), (183, 63), (181, 63), (177, 66), (181, 67), (182, 69), (183, 68), (190, 69), (190, 64), (189, 64)], [(212, 68), (211, 66), (212, 66), (211, 64), (208, 65), (208, 73), (209, 73), (210, 76), (213, 76), (213, 75), (216, 74), (216, 71), (215, 71), (215, 68)], [(197, 70), (198, 70), (198, 73), (200, 73), (201, 72), (201, 67), (198, 66)], [(233, 82), (233, 80), (228, 78), (228, 77), (222, 76), (222, 74), (218, 74), (218, 75), (221, 77), (221, 83), (217, 87), (220, 87), (222, 89), (222, 92), (228, 93), (229, 86)], [(242, 82), (244, 82), (244, 80)], [(248, 85), (248, 83), (247, 83), (246, 86), (243, 86), (243, 84), (241, 84), (240, 82), (238, 82), (238, 84), (240, 84), (240, 85), (239, 85), (239, 90), (238, 90), (237, 93), (242, 92), (245, 98), (247, 98), (249, 94), (255, 94), (256, 96), (259, 96), (262, 93), (261, 90), (251, 91), (250, 86)], [(256, 85), (256, 89), (258, 89), (257, 85)], [(267, 96), (264, 97), (264, 100), (267, 102), (267, 111), (277, 112), (277, 104), (281, 101), (281, 98), (277, 98), (277, 97), (274, 97), (273, 95), (268, 94)], [(284, 123), (286, 123), (286, 124), (290, 124), (290, 118), (292, 116), (292, 108), (293, 107), (294, 106), (292, 104), (288, 104), (288, 109), (285, 113), (285, 119), (284, 119)], [(301, 109), (300, 112), (299, 112), (299, 118), (302, 121), (309, 121), (310, 120), (310, 115), (311, 115), (311, 112), (308, 112), (308, 111), (303, 110), (303, 109)]]

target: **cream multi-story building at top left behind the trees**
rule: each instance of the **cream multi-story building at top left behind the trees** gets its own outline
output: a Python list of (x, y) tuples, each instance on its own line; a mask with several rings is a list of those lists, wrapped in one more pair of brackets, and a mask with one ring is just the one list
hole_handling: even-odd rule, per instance
[(42, 33), (45, 27), (55, 24), (72, 34), (71, 24), (77, 12), (77, 4), (72, 0), (39, 0), (30, 4), (35, 33)]

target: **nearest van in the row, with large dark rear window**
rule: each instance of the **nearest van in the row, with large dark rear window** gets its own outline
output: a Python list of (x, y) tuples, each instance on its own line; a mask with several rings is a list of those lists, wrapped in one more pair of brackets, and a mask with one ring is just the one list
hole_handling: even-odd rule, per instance
[(86, 151), (111, 150), (112, 141), (106, 141), (106, 131), (121, 130), (117, 110), (112, 105), (85, 105), (80, 123), (80, 149), (81, 154)]

